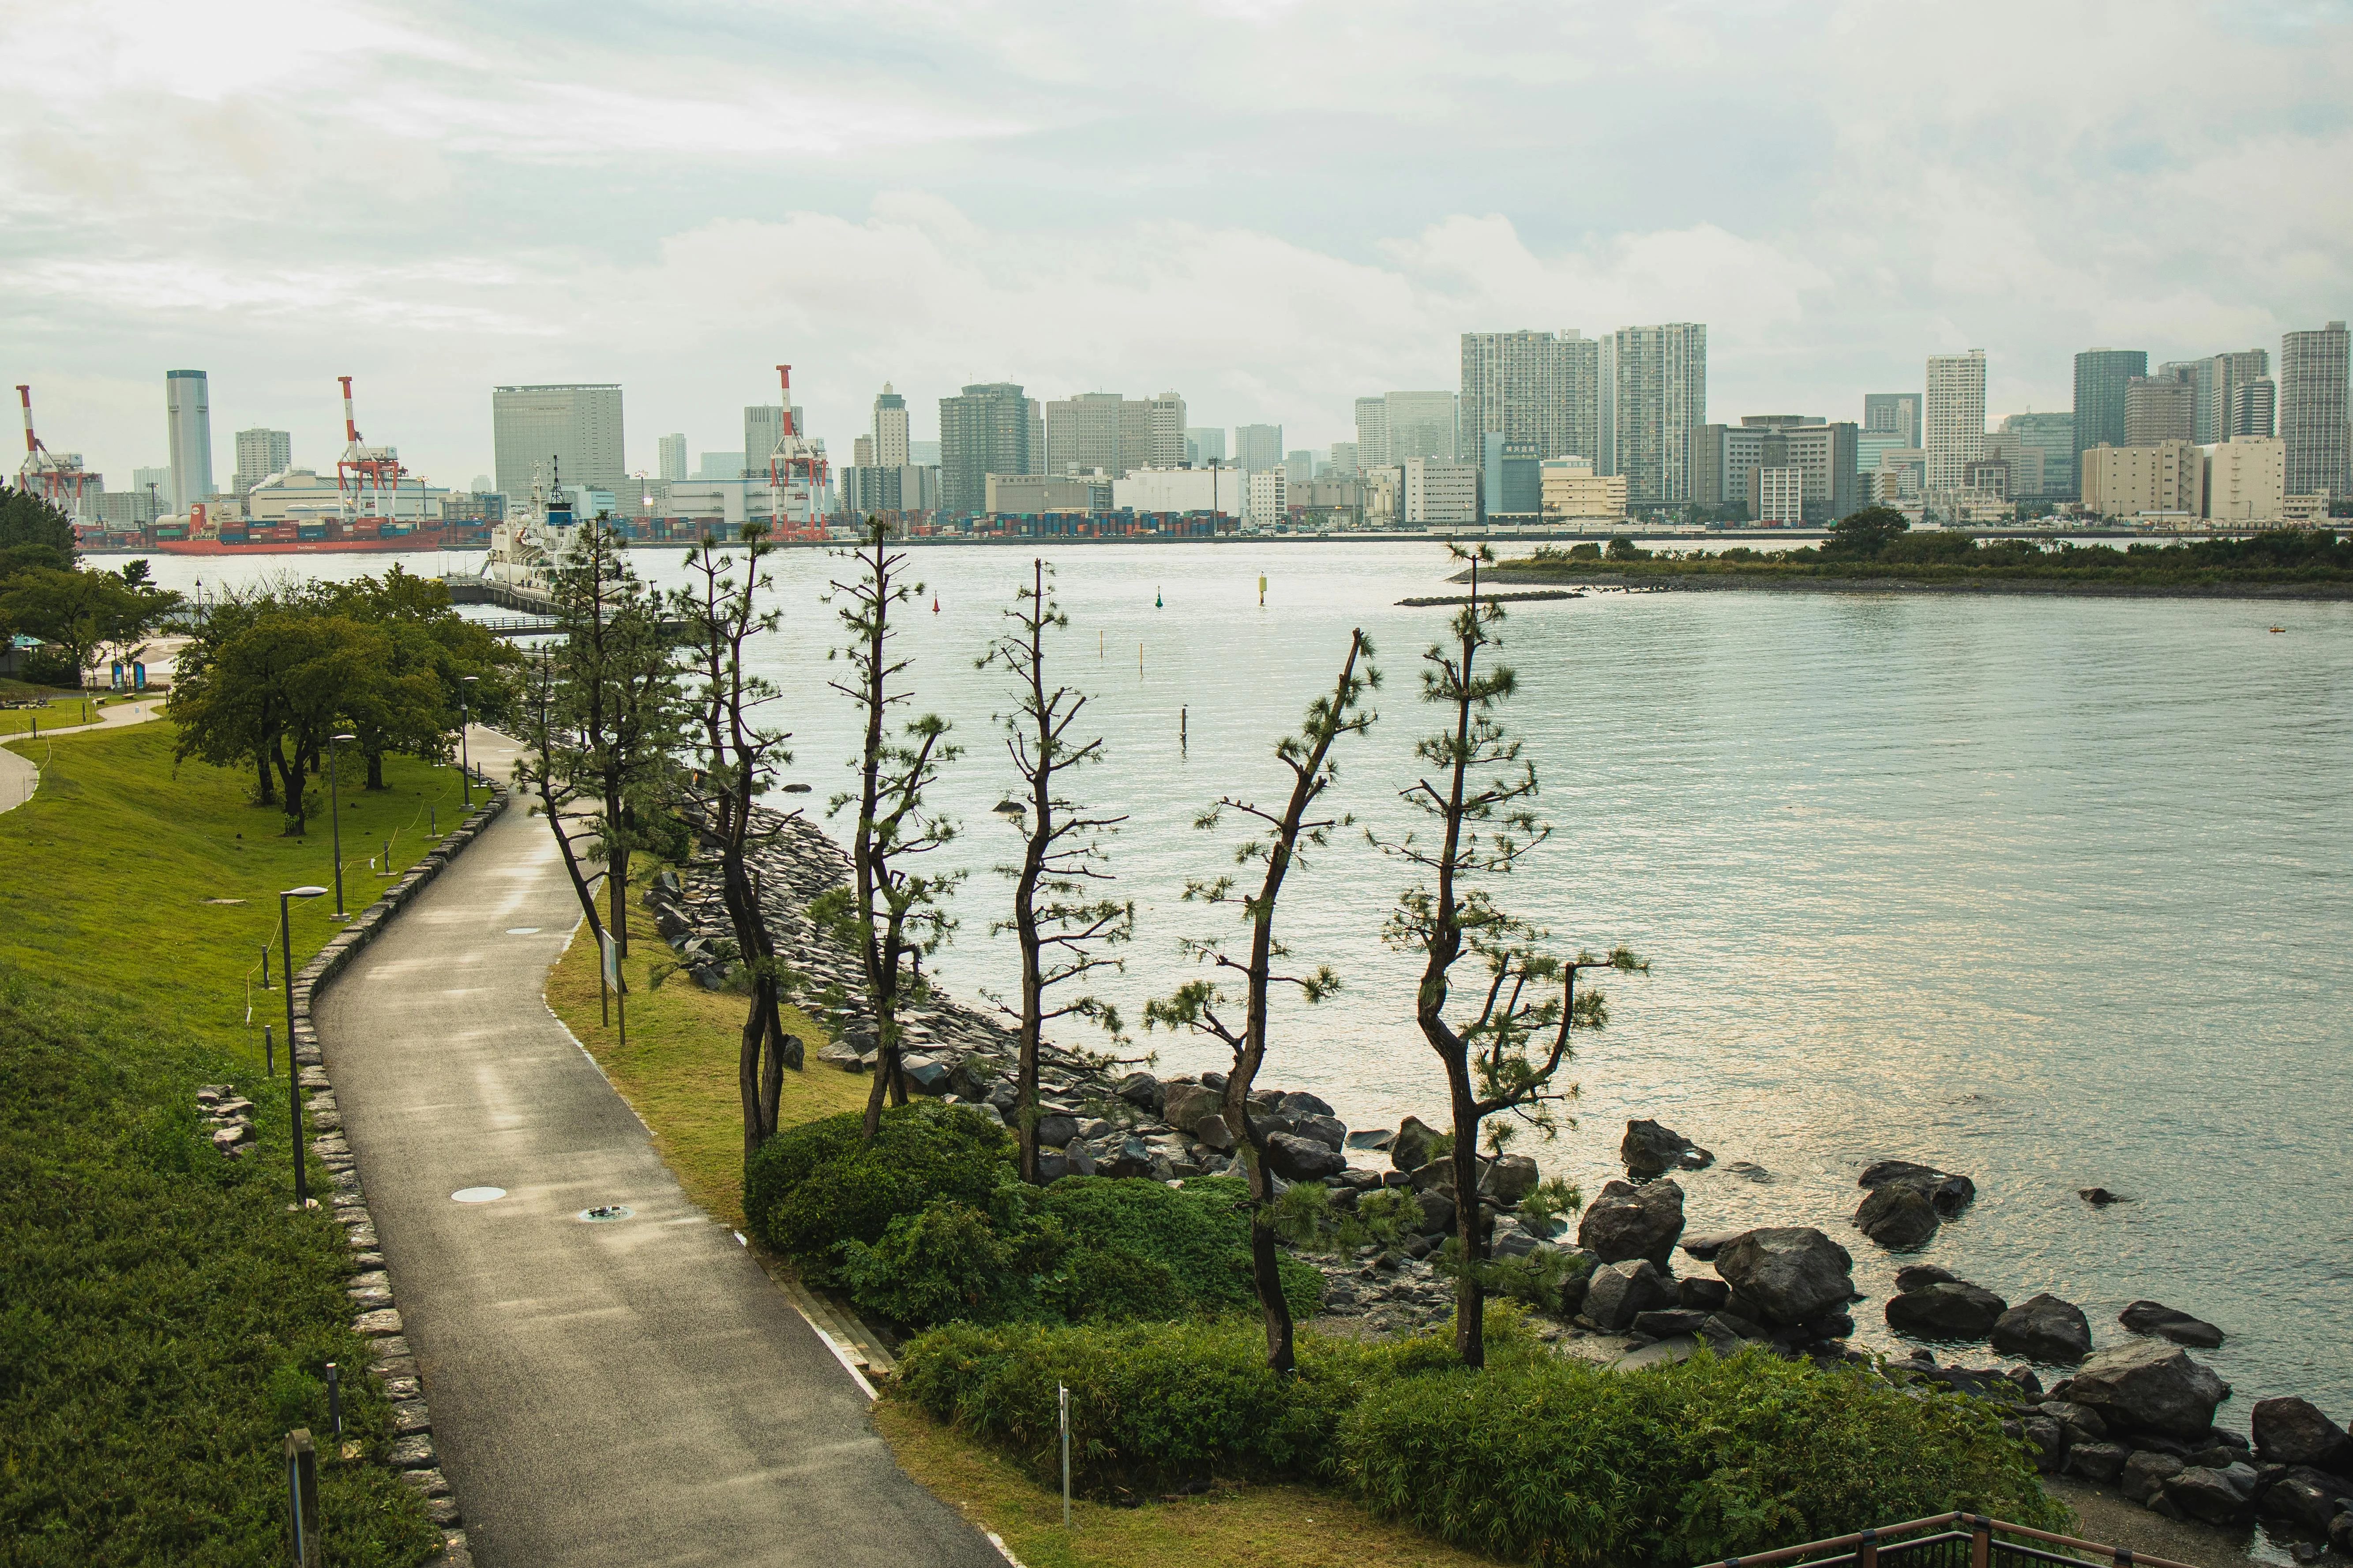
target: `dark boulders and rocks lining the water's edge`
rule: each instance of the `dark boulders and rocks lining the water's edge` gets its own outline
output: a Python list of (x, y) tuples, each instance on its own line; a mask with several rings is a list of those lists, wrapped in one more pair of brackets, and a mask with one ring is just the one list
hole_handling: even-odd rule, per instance
[[(800, 997), (835, 1041), (816, 1063), (864, 1072), (873, 1065), (873, 1020), (859, 997), (856, 957), (814, 929), (807, 903), (847, 877), (847, 856), (798, 816), (762, 811), (751, 851), (760, 903), (779, 954), (802, 976)], [(656, 929), (699, 985), (725, 987), (734, 933), (720, 903), (715, 858), (696, 860), (647, 891)], [(812, 997), (819, 997), (812, 1004)], [(911, 1088), (969, 1103), (1005, 1117), (1014, 1107), (1016, 1037), (1002, 1018), (948, 997), (906, 1013)], [(812, 1065), (816, 1070), (816, 1065)], [(1214, 1072), (1160, 1079), (1118, 1072), (1085, 1053), (1040, 1051), (1040, 1143), (1047, 1178), (1113, 1175), (1181, 1182), (1233, 1175), (1240, 1161), (1217, 1105)], [(1395, 1192), (1384, 1208), (1398, 1222), (1393, 1244), (1346, 1255), (1306, 1255), (1325, 1276), (1318, 1326), (1334, 1333), (1391, 1335), (1442, 1321), (1452, 1281), (1435, 1267), (1454, 1232), (1454, 1166), (1438, 1157), (1438, 1133), (1407, 1117), (1395, 1128), (1351, 1131), (1313, 1093), (1264, 1088), (1252, 1095), (1268, 1126), (1280, 1182), (1320, 1182), (1337, 1213), (1367, 1194)], [(2005, 1429), (2028, 1443), (2045, 1474), (2115, 1486), (2169, 1519), (2240, 1526), (2264, 1519), (2318, 1556), (2320, 1542), (2353, 1554), (2353, 1439), (2304, 1399), (2264, 1399), (2249, 1434), (2214, 1425), (2228, 1385), (2184, 1347), (2221, 1345), (2224, 1331), (2160, 1302), (2120, 1314), (2129, 1333), (2094, 1354), (2082, 1309), (2038, 1293), (2007, 1302), (1946, 1269), (1915, 1265), (1897, 1274), (1885, 1302), (1889, 1328), (1920, 1345), (1911, 1359), (1873, 1361), (1847, 1345), (1854, 1335), (1854, 1260), (1814, 1227), (1758, 1227), (1722, 1237), (1685, 1237), (1675, 1171), (1699, 1171), (1713, 1154), (1657, 1121), (1631, 1121), (1619, 1150), (1628, 1180), (1593, 1197), (1569, 1237), (1569, 1222), (1529, 1201), (1537, 1164), (1522, 1154), (1482, 1159), (1478, 1201), (1497, 1260), (1527, 1260), (1558, 1293), (1544, 1314), (1544, 1338), (1562, 1354), (1635, 1368), (1689, 1356), (1699, 1345), (1732, 1354), (1760, 1345), (1784, 1356), (1875, 1363), (1889, 1378), (1939, 1385), (2000, 1406)], [(1355, 1157), (1355, 1159), (1351, 1159)], [(1367, 1164), (1358, 1164), (1367, 1161)], [(1379, 1164), (1369, 1164), (1379, 1161)], [(1967, 1208), (1967, 1175), (1911, 1161), (1882, 1161), (1861, 1173), (1857, 1229), (1889, 1251), (1913, 1251)], [(2106, 1197), (2106, 1194), (2101, 1194)], [(2099, 1201), (2092, 1192), (2085, 1201)], [(1675, 1276), (1675, 1253), (1711, 1265)], [(1939, 1363), (1965, 1345), (1988, 1345), (2009, 1366)], [(2045, 1387), (2035, 1366), (2073, 1368)]]

